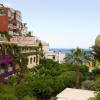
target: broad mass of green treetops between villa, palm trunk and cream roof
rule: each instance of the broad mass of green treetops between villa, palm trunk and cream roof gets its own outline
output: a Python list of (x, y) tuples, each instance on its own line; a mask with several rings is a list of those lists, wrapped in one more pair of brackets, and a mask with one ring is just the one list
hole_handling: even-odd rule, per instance
[[(75, 71), (72, 64), (58, 64), (50, 59), (42, 59), (36, 68), (16, 73), (9, 78), (7, 84), (0, 85), (0, 95), (5, 93), (18, 100), (36, 100), (36, 98), (47, 100), (55, 97), (66, 87), (75, 87)], [(80, 82), (85, 79), (84, 71), (79, 73)], [(56, 100), (56, 98), (51, 98), (51, 100)]]

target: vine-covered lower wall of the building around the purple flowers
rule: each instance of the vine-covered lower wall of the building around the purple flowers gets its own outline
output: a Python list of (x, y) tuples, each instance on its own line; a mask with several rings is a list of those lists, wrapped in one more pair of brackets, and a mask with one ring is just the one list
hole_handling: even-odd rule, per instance
[[(23, 52), (23, 50), (24, 50), (24, 52)], [(1, 42), (0, 43), (0, 57), (2, 58), (5, 55), (9, 55), (10, 57), (12, 57), (12, 60), (10, 62), (13, 63), (13, 65), (12, 65), (13, 71), (11, 74), (16, 72), (16, 70), (21, 73), (25, 72), (27, 70), (27, 66), (28, 66), (28, 62), (29, 62), (28, 56), (35, 55), (36, 57), (39, 57), (39, 54), (40, 54), (39, 47), (18, 46), (17, 44), (10, 43), (10, 42)], [(7, 73), (6, 70), (8, 69), (8, 66), (10, 63), (10, 62), (7, 62), (7, 60), (5, 58), (4, 58), (4, 60), (5, 60), (5, 62), (3, 64), (0, 63), (0, 66), (2, 65), (2, 67), (0, 67), (1, 76), (3, 74)], [(9, 57), (8, 57), (8, 60), (9, 60)], [(36, 58), (36, 60), (39, 60), (39, 58)], [(37, 61), (36, 61), (36, 64), (37, 64)], [(5, 66), (6, 66), (6, 68), (5, 68)], [(3, 69), (3, 71), (2, 71), (2, 69)], [(11, 74), (7, 74), (7, 75), (9, 76)], [(6, 76), (2, 76), (2, 77), (6, 77)]]

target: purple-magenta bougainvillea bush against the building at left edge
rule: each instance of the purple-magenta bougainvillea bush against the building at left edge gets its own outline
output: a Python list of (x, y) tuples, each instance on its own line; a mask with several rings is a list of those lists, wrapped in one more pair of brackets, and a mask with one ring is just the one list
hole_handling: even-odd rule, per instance
[(15, 62), (10, 54), (5, 54), (0, 57), (0, 79), (5, 79), (13, 74), (15, 70)]

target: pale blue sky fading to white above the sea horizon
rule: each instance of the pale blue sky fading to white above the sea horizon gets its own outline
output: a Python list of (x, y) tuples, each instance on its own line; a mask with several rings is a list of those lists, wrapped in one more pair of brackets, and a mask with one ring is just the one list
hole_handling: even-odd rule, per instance
[(50, 48), (90, 48), (100, 34), (100, 0), (0, 0)]

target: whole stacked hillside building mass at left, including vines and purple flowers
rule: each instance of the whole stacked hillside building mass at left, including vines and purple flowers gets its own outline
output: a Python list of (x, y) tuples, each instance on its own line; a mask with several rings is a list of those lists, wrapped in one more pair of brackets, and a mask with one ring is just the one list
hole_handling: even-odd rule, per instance
[(0, 81), (39, 64), (39, 39), (28, 34), (21, 12), (0, 4)]

